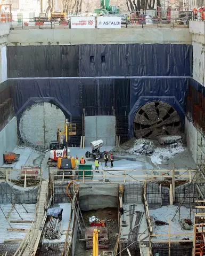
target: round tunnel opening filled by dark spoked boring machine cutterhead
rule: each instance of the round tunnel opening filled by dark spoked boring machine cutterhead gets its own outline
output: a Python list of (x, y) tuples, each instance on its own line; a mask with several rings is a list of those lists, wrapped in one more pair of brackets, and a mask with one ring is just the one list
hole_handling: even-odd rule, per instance
[(156, 139), (161, 135), (177, 135), (181, 128), (179, 114), (173, 106), (165, 102), (147, 103), (134, 117), (136, 138)]

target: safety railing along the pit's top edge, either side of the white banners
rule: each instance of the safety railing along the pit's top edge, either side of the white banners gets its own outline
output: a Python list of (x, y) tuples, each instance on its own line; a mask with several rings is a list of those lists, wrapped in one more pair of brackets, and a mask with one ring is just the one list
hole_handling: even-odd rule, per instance
[[(4, 19), (5, 20), (5, 19)], [(11, 22), (11, 29), (71, 29), (70, 18), (60, 19), (53, 18), (26, 18), (12, 16), (12, 19), (6, 19)], [(188, 18), (177, 17), (147, 17), (141, 15), (121, 19), (121, 28), (187, 28)], [(97, 18), (95, 18), (95, 28), (97, 28)]]

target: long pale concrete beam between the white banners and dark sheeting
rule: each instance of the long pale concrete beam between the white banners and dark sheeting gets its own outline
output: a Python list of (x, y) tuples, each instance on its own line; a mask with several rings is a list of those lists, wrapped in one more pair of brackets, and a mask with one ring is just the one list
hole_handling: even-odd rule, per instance
[(191, 44), (188, 28), (12, 30), (7, 45), (179, 43)]

